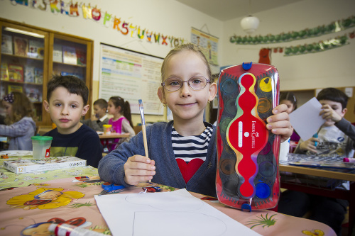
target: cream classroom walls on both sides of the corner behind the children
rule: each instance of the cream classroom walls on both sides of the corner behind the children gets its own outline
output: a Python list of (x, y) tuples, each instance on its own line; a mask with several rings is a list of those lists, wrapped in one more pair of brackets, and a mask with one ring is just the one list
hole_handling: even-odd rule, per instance
[[(65, 0), (65, 2), (67, 1)], [(349, 35), (349, 32), (355, 29), (350, 28), (339, 33), (290, 43), (236, 45), (230, 43), (229, 38), (234, 34), (246, 35), (240, 28), (240, 21), (244, 16), (237, 16), (231, 21), (222, 22), (175, 0), (89, 0), (85, 3), (98, 6), (102, 13), (107, 11), (107, 13), (121, 18), (121, 21), (140, 26), (142, 29), (147, 28), (164, 35), (172, 35), (175, 38), (184, 38), (187, 41), (190, 41), (191, 27), (215, 35), (219, 38), (220, 66), (250, 61), (258, 62), (258, 53), (262, 47), (285, 47), (313, 43), (345, 33)], [(354, 9), (354, 0), (299, 1), (295, 4), (254, 14), (254, 16), (258, 16), (261, 23), (256, 33), (251, 35), (266, 35), (268, 33), (277, 35), (282, 32), (329, 24), (332, 21), (354, 15)], [(82, 16), (63, 16), (51, 13), (49, 10), (31, 9), (29, 6), (13, 6), (10, 0), (0, 1), (0, 16), (12, 21), (94, 40), (93, 101), (98, 99), (99, 91), (100, 43), (124, 47), (158, 57), (165, 57), (172, 48), (170, 45), (148, 43), (146, 40), (141, 41), (130, 35), (122, 35), (109, 26), (104, 26), (102, 21), (96, 22), (84, 19)], [(349, 39), (349, 43), (349, 45), (325, 52), (292, 57), (283, 57), (283, 54), (272, 53), (271, 64), (278, 68), (280, 89), (307, 90), (327, 86), (355, 86), (355, 39)], [(165, 120), (165, 118), (165, 115), (147, 116), (146, 121), (155, 122)], [(140, 122), (139, 116), (133, 115), (133, 123)]]

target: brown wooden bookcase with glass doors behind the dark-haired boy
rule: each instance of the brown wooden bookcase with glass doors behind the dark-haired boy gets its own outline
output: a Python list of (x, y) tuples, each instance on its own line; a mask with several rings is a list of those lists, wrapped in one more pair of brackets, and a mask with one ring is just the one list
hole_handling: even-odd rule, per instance
[(82, 79), (92, 103), (92, 40), (3, 18), (0, 26), (0, 99), (11, 91), (26, 93), (35, 107), (37, 125), (51, 125), (43, 108), (46, 85), (54, 74), (62, 74)]

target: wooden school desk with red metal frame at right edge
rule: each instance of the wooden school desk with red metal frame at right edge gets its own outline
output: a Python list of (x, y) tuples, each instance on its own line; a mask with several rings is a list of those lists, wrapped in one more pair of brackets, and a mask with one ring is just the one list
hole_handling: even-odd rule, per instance
[[(302, 191), (305, 193), (329, 196), (331, 198), (346, 199), (349, 201), (349, 234), (351, 235), (354, 220), (355, 220), (355, 170), (347, 169), (331, 169), (331, 168), (312, 168), (312, 167), (298, 167), (292, 166), (287, 163), (280, 164), (280, 185), (281, 188), (290, 189), (295, 191)], [(309, 176), (320, 176), (330, 179), (340, 179), (350, 182), (350, 190), (342, 189), (327, 189), (325, 187), (307, 185), (287, 181), (283, 176), (287, 176), (287, 172), (294, 174), (307, 174)]]

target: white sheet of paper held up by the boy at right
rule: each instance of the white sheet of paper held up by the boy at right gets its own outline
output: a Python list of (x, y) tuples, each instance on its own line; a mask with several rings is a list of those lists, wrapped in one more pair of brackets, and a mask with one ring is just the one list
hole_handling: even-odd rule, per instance
[(324, 123), (320, 111), (322, 104), (316, 98), (312, 98), (290, 113), (290, 123), (302, 140), (310, 139)]

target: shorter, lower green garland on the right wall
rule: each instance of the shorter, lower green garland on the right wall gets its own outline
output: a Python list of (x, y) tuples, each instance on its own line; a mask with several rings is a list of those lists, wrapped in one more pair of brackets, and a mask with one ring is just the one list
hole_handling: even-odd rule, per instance
[(295, 55), (304, 55), (307, 53), (324, 52), (325, 50), (349, 45), (349, 43), (347, 42), (348, 39), (349, 38), (344, 35), (339, 36), (337, 38), (332, 38), (330, 40), (320, 41), (320, 43), (297, 45), (295, 47), (285, 47), (285, 55), (283, 56), (288, 57)]

